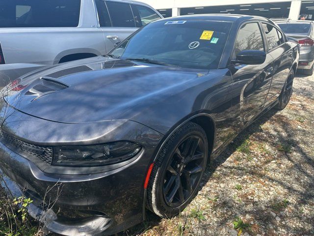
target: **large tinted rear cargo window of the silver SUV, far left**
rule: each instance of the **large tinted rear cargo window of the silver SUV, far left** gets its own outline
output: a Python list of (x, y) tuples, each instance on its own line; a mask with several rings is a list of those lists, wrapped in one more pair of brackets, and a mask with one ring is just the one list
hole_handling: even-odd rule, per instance
[(0, 28), (78, 27), (80, 0), (1, 1)]

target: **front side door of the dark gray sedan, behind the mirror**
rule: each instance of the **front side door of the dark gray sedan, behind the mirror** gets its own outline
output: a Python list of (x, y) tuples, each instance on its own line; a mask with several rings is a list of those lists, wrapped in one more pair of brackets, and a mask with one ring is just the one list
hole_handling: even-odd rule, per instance
[(233, 78), (233, 105), (235, 116), (241, 129), (259, 115), (264, 106), (265, 98), (271, 83), (273, 59), (266, 54), (262, 64), (238, 64), (236, 55), (244, 50), (259, 50), (266, 52), (266, 43), (259, 21), (245, 22), (238, 29), (232, 62), (229, 69)]

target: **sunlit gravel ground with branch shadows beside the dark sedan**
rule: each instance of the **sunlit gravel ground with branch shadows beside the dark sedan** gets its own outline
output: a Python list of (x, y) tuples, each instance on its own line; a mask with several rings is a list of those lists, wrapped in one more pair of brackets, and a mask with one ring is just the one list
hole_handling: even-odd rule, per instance
[[(314, 236), (314, 76), (300, 74), (283, 111), (243, 131), (206, 171), (182, 214), (121, 236)], [(237, 229), (235, 229), (237, 228)]]

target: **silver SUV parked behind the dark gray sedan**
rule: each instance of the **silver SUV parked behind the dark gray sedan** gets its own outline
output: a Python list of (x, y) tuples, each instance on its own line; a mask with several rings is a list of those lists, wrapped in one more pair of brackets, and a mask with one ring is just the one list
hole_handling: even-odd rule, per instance
[(160, 18), (129, 0), (0, 0), (0, 87), (42, 67), (105, 55)]

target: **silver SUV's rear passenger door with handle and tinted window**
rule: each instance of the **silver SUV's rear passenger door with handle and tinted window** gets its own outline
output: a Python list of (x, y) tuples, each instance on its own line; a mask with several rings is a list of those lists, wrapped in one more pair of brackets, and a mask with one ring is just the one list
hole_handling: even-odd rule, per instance
[(136, 31), (131, 5), (121, 1), (95, 0), (99, 27), (103, 29), (106, 52)]

